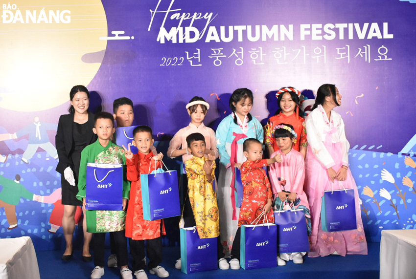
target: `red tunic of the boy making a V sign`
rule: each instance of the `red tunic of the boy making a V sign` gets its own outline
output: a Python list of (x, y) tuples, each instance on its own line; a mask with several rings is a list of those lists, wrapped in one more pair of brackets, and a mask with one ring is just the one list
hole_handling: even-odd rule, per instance
[[(161, 236), (161, 220), (148, 221), (143, 219), (143, 203), (141, 200), (140, 174), (155, 170), (155, 156), (152, 152), (144, 155), (135, 154), (133, 159), (127, 159), (127, 179), (132, 182), (130, 200), (126, 216), (126, 236), (134, 240), (153, 239)], [(161, 162), (156, 163), (156, 169), (161, 168)]]

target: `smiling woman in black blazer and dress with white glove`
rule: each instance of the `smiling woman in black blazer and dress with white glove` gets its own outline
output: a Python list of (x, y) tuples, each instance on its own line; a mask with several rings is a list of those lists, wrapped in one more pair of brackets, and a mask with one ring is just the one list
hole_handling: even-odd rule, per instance
[[(81, 151), (97, 140), (92, 132), (94, 127), (94, 115), (88, 111), (90, 105), (90, 92), (85, 86), (73, 86), (69, 92), (71, 106), (69, 114), (61, 115), (58, 122), (58, 130), (55, 137), (56, 150), (59, 163), (56, 171), (61, 173), (62, 204), (64, 216), (62, 228), (64, 230), (67, 248), (62, 260), (72, 258), (72, 236), (75, 230), (75, 212), (82, 202), (76, 199), (78, 193), (78, 172), (81, 160)], [(87, 233), (86, 218), (83, 218), (84, 246), (82, 256), (84, 261), (91, 261), (90, 242), (91, 233)]]

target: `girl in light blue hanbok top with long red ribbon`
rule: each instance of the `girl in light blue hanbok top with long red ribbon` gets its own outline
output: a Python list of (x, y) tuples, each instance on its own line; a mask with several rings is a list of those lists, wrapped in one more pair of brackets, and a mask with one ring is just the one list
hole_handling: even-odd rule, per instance
[(230, 97), (232, 113), (224, 118), (216, 131), (217, 148), (220, 153), (218, 178), (218, 208), (220, 211), (221, 241), (230, 254), (232, 241), (237, 231), (240, 209), (235, 203), (235, 171), (246, 161), (243, 143), (247, 138), (263, 142), (263, 127), (250, 111), (253, 93), (247, 88), (236, 89)]

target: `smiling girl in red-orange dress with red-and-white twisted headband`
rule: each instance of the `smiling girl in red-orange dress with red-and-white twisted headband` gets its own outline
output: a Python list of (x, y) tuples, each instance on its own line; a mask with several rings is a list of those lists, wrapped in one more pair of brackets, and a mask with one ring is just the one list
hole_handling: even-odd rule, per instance
[(270, 154), (279, 149), (274, 137), (276, 126), (280, 123), (287, 123), (292, 125), (297, 134), (293, 148), (300, 151), (303, 158), (305, 157), (308, 142), (306, 140), (305, 120), (301, 117), (303, 112), (300, 108), (299, 97), (300, 91), (291, 86), (282, 87), (277, 91), (276, 98), (279, 109), (275, 116), (270, 117), (265, 132), (265, 144)]

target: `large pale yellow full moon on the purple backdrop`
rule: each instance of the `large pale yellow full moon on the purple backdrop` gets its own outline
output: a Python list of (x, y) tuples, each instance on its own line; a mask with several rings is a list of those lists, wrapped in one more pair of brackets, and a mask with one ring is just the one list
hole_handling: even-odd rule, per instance
[[(84, 54), (106, 49), (107, 41), (99, 40), (108, 34), (101, 1), (16, 0), (10, 4), (16, 4), (15, 9), (0, 11), (7, 14), (0, 18), (0, 107), (40, 111), (68, 102), (71, 87), (88, 86), (101, 65), (101, 61), (81, 60)], [(62, 13), (65, 10), (70, 14)], [(50, 12), (62, 15), (59, 22)], [(69, 23), (63, 22), (68, 21), (66, 16)]]

